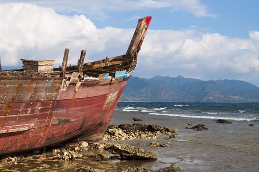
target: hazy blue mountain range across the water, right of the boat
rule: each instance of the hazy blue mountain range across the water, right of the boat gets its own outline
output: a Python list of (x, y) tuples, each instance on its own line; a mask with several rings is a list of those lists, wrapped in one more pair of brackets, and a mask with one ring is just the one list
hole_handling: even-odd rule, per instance
[(120, 101), (147, 102), (259, 102), (259, 87), (238, 80), (210, 80), (155, 76), (131, 77)]

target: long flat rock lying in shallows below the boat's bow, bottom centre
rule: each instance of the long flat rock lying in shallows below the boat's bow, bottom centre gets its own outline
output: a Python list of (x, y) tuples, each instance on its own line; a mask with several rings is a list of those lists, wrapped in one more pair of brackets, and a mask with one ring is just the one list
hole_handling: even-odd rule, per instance
[(128, 159), (157, 159), (154, 153), (129, 144), (106, 143), (104, 149), (112, 154), (119, 154)]

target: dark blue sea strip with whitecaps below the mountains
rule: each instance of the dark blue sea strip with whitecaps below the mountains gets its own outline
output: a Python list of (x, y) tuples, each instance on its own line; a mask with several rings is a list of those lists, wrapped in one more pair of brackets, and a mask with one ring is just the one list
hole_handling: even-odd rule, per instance
[(259, 103), (119, 102), (115, 110), (189, 118), (259, 120)]

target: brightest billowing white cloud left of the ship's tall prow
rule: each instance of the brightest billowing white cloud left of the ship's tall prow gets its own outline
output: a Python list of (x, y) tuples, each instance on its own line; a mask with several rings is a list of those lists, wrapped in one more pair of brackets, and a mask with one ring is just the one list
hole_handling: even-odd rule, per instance
[[(53, 9), (35, 4), (0, 5), (0, 55), (3, 65), (15, 66), (21, 57), (62, 60), (70, 48), (70, 62), (76, 62), (81, 49), (87, 56), (130, 39), (126, 29), (97, 29), (84, 15), (58, 15)], [(132, 30), (133, 31), (133, 30)], [(112, 34), (110, 34), (110, 32)], [(122, 52), (121, 52), (122, 54)]]

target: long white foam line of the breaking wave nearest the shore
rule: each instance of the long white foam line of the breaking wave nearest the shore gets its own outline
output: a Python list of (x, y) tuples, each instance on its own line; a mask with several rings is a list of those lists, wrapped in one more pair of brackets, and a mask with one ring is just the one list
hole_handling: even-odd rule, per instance
[(247, 119), (247, 118), (237, 118), (237, 117), (221, 117), (221, 116), (192, 116), (192, 115), (182, 115), (182, 114), (159, 114), (159, 113), (149, 113), (148, 115), (167, 115), (167, 116), (175, 116), (175, 117), (190, 117), (190, 118), (204, 118), (204, 119), (227, 119), (227, 120), (236, 120), (236, 121), (251, 121), (256, 120), (256, 118), (253, 119)]

